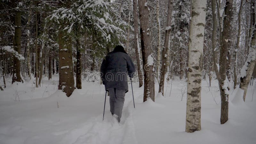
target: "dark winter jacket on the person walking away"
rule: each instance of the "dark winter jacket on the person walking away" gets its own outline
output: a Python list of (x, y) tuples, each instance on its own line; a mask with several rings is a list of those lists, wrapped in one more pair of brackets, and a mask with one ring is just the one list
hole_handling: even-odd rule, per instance
[(128, 92), (127, 72), (129, 77), (132, 78), (135, 73), (135, 66), (124, 50), (116, 50), (115, 48), (103, 60), (100, 72), (106, 90), (108, 88), (121, 88)]

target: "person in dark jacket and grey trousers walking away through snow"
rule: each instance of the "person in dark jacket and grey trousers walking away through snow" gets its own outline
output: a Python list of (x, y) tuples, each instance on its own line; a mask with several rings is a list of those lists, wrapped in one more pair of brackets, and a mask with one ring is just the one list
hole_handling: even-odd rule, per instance
[(124, 96), (128, 92), (127, 72), (132, 78), (135, 66), (124, 47), (117, 45), (102, 61), (100, 72), (105, 89), (109, 92), (110, 112), (120, 122)]

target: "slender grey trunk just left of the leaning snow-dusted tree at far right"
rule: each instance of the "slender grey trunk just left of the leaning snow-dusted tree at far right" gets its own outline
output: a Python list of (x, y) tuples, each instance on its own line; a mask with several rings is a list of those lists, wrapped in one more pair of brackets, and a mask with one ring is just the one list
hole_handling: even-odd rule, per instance
[(240, 42), (240, 33), (241, 33), (241, 13), (243, 9), (243, 0), (241, 0), (239, 12), (238, 12), (238, 33), (236, 39), (236, 50), (235, 50), (235, 64), (234, 64), (234, 89), (237, 84), (237, 75), (236, 75), (236, 66), (237, 66), (237, 51), (239, 50), (239, 42)]

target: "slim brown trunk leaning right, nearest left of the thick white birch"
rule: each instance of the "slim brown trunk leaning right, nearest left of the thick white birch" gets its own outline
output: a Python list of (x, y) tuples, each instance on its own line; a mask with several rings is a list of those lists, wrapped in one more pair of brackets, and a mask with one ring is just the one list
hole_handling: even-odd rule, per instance
[(171, 34), (171, 20), (172, 20), (172, 0), (168, 1), (168, 11), (165, 27), (164, 47), (162, 51), (162, 66), (160, 70), (160, 82), (158, 92), (164, 95), (164, 80), (167, 69), (170, 66), (170, 34)]

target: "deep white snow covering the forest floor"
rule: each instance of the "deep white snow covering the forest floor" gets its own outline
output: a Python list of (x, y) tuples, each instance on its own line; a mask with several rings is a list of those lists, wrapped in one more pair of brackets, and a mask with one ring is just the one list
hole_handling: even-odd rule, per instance
[(164, 97), (156, 93), (155, 102), (144, 103), (143, 87), (134, 83), (135, 109), (129, 84), (120, 124), (110, 114), (109, 97), (102, 121), (105, 89), (97, 82), (83, 81), (69, 98), (57, 90), (58, 75), (45, 77), (39, 88), (31, 81), (9, 82), (0, 91), (0, 144), (255, 144), (255, 85), (249, 86), (245, 103), (242, 95), (234, 99), (237, 90), (230, 91), (229, 120), (221, 125), (218, 83), (210, 88), (208, 83), (202, 81), (202, 130), (187, 133), (184, 81), (165, 83)]

